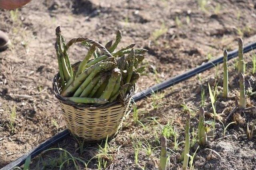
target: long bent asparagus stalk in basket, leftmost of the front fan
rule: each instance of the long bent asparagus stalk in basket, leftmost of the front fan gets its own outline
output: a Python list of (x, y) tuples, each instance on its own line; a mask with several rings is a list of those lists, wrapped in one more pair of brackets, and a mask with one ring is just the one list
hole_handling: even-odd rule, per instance
[(86, 77), (88, 77), (96, 68), (101, 69), (107, 69), (107, 68), (113, 68), (115, 66), (115, 63), (113, 62), (105, 62), (105, 63), (97, 63), (89, 68), (87, 68), (84, 72), (82, 72), (71, 84), (68, 86), (66, 90), (62, 92), (62, 96), (67, 97), (74, 94), (75, 90), (82, 84)]

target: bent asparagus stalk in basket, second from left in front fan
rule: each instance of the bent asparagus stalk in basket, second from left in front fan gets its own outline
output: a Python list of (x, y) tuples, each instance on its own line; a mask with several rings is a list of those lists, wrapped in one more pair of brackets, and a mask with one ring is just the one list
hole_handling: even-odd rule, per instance
[[(106, 62), (107, 63), (107, 62)], [(110, 63), (110, 62), (109, 62)], [(111, 62), (111, 64), (108, 64), (108, 67), (106, 66), (102, 66), (104, 63), (102, 63), (99, 67), (96, 67), (91, 74), (84, 80), (84, 82), (80, 85), (80, 87), (76, 90), (75, 94), (73, 95), (73, 97), (79, 97), (81, 95), (81, 93), (83, 92), (83, 90), (86, 88), (86, 86), (90, 83), (90, 81), (92, 81), (92, 79), (96, 76), (96, 74), (98, 74), (101, 70), (110, 70), (112, 69), (115, 64), (113, 62)]]

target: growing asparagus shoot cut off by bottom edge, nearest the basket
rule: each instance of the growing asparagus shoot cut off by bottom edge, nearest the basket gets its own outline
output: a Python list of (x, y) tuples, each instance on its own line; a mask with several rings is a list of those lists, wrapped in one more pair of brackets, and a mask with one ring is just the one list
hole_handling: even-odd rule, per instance
[(166, 138), (164, 136), (161, 137), (161, 154), (160, 154), (160, 162), (158, 170), (166, 170), (166, 161), (167, 161), (167, 144)]

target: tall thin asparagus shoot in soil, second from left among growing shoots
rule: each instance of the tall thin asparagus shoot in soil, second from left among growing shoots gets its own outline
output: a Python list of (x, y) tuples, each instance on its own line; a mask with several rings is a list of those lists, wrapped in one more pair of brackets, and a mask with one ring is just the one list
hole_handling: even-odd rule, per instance
[(190, 149), (189, 129), (190, 129), (190, 114), (188, 114), (188, 117), (186, 119), (185, 149), (184, 149), (184, 160), (182, 165), (183, 170), (186, 170), (188, 167), (189, 149)]

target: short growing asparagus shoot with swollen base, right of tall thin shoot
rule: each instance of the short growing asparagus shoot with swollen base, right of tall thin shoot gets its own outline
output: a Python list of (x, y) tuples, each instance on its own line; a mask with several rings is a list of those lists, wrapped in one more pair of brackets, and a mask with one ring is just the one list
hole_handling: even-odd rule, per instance
[(198, 143), (201, 148), (207, 142), (206, 127), (204, 125), (204, 108), (201, 107), (199, 110), (199, 122), (198, 122)]

